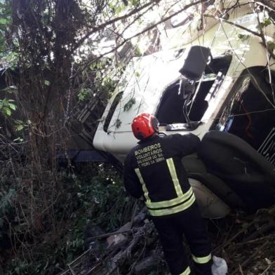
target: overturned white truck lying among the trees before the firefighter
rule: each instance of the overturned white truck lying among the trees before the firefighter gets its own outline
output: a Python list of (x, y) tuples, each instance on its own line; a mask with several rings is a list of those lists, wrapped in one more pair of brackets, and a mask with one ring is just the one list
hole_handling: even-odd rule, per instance
[[(182, 163), (210, 218), (275, 202), (274, 58), (257, 35), (266, 15), (236, 14), (181, 48), (134, 58), (93, 139), (123, 163), (137, 143), (130, 124), (141, 112), (154, 114), (165, 135), (198, 135), (198, 154)], [(274, 32), (267, 26), (265, 39)]]

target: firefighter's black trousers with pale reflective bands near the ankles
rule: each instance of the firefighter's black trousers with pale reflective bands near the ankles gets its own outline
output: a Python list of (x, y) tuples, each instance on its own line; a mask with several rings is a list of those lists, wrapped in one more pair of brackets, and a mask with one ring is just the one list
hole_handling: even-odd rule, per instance
[(163, 253), (172, 275), (190, 274), (189, 256), (183, 246), (183, 234), (185, 234), (192, 253), (195, 274), (212, 274), (208, 232), (196, 203), (181, 213), (165, 217), (152, 217), (152, 220), (159, 233)]

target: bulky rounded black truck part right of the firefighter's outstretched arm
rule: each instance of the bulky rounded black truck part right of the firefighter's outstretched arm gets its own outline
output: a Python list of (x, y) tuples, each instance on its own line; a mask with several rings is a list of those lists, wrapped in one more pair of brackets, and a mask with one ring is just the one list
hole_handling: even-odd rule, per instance
[(208, 173), (219, 177), (246, 204), (247, 210), (275, 203), (275, 168), (236, 135), (210, 131), (198, 152)]

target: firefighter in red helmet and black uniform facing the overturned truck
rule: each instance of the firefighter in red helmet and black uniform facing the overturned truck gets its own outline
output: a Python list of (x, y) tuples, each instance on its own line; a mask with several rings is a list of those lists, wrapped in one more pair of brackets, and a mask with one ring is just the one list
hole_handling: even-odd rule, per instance
[(212, 274), (208, 233), (181, 162), (182, 156), (196, 152), (199, 137), (159, 135), (159, 121), (147, 113), (133, 119), (132, 130), (140, 141), (126, 157), (124, 185), (130, 195), (145, 199), (170, 273), (192, 274), (183, 245), (184, 234), (195, 274)]

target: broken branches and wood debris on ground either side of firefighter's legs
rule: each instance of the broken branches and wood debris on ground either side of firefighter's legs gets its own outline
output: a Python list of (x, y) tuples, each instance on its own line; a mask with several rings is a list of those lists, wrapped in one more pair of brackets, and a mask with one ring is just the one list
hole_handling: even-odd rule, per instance
[[(89, 250), (68, 264), (62, 274), (168, 274), (154, 224), (146, 210), (133, 208), (129, 222), (115, 232), (89, 236)], [(229, 274), (275, 274), (275, 206), (254, 215), (234, 213), (211, 221), (214, 255), (223, 257)], [(98, 244), (105, 242), (102, 250)]]

